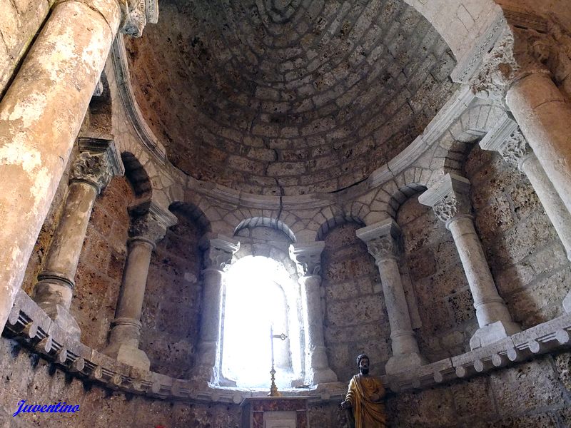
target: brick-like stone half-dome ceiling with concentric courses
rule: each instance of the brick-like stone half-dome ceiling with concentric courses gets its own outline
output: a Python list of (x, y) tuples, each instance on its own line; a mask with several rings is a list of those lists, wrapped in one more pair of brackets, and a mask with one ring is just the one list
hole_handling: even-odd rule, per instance
[(401, 0), (161, 0), (126, 41), (169, 160), (257, 194), (332, 192), (413, 141), (454, 89), (448, 46)]

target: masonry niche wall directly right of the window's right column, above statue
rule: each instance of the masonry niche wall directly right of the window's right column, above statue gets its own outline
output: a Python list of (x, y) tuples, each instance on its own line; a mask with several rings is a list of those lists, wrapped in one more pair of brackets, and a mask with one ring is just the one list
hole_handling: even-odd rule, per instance
[(340, 225), (325, 236), (322, 276), (325, 291), (325, 346), (329, 365), (342, 382), (357, 371), (365, 352), (371, 372), (389, 359), (390, 328), (375, 260), (355, 235), (359, 225)]

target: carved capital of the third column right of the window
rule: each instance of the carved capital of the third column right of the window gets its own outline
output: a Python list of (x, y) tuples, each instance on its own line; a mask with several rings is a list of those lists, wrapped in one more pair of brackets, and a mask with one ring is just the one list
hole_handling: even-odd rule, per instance
[(433, 208), (436, 217), (446, 223), (470, 216), (470, 181), (460, 175), (446, 174), (418, 197), (418, 202)]

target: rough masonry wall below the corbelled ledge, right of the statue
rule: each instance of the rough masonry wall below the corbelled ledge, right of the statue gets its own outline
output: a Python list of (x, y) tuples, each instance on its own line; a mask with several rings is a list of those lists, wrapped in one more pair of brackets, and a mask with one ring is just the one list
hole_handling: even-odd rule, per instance
[(570, 354), (388, 397), (391, 428), (571, 426)]

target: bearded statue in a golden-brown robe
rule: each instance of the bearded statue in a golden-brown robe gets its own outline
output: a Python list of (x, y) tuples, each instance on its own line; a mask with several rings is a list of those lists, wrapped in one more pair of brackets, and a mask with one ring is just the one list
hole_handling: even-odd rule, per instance
[(357, 357), (359, 374), (349, 382), (349, 389), (341, 408), (348, 414), (350, 428), (386, 428), (385, 388), (378, 377), (369, 374), (369, 357)]

